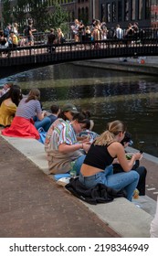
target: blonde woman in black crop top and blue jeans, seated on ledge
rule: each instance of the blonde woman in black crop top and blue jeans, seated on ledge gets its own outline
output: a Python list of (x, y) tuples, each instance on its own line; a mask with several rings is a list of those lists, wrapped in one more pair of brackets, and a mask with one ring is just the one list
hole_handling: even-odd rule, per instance
[[(126, 128), (121, 121), (108, 123), (107, 130), (96, 138), (90, 146), (83, 165), (80, 169), (79, 181), (86, 187), (95, 187), (98, 183), (113, 189), (124, 189), (127, 199), (132, 201), (134, 189), (139, 181), (139, 174), (132, 170), (135, 160), (142, 155), (136, 153), (128, 161), (121, 140)], [(124, 173), (113, 175), (112, 168), (108, 168), (114, 158), (118, 158)]]

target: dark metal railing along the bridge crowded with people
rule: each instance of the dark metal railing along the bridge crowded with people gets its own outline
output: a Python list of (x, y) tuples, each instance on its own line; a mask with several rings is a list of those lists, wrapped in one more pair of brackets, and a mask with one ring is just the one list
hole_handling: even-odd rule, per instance
[(122, 39), (91, 41), (82, 37), (82, 42), (66, 42), (49, 46), (45, 35), (36, 37), (32, 47), (0, 48), (0, 67), (47, 65), (81, 59), (105, 59), (158, 55), (158, 30), (145, 29)]

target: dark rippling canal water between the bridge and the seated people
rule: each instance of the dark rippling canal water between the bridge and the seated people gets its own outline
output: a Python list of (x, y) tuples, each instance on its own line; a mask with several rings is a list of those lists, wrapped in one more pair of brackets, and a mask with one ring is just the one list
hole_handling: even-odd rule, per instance
[(0, 80), (0, 86), (6, 81), (19, 84), (24, 94), (38, 88), (45, 109), (72, 102), (90, 110), (97, 133), (119, 119), (132, 133), (134, 148), (158, 156), (157, 77), (67, 63), (18, 73)]

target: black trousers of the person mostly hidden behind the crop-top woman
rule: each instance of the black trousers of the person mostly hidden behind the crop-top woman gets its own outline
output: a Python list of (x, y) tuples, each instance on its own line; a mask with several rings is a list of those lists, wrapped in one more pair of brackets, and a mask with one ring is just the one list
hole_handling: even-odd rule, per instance
[[(146, 184), (147, 170), (144, 166), (139, 166), (139, 165), (133, 166), (132, 170), (135, 170), (140, 175), (137, 189), (140, 191), (140, 196), (145, 196), (145, 184)], [(113, 165), (113, 174), (118, 174), (121, 172), (123, 172), (121, 165), (114, 164)]]

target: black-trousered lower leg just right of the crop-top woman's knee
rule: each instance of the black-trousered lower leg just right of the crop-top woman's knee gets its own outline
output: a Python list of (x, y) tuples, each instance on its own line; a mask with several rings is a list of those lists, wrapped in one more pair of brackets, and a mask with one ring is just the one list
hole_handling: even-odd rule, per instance
[(140, 175), (140, 179), (138, 182), (138, 190), (139, 190), (139, 195), (140, 196), (145, 196), (145, 183), (146, 183), (146, 174), (147, 170), (144, 166), (140, 166), (135, 169), (135, 171)]

